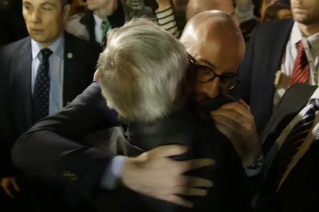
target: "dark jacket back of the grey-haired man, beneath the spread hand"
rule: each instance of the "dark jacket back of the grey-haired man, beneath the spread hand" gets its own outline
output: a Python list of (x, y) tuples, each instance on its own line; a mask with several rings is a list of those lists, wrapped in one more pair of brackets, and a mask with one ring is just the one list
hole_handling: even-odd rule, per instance
[[(206, 114), (210, 120), (210, 113)], [(209, 189), (205, 197), (192, 197), (188, 199), (195, 203), (195, 207), (187, 209), (177, 205), (156, 200), (127, 191), (123, 188), (99, 197), (99, 211), (114, 210), (124, 212), (128, 210), (141, 210), (144, 212), (227, 212), (238, 209), (249, 210), (248, 196), (245, 190), (244, 173), (241, 161), (236, 155), (231, 143), (211, 122), (204, 123), (193, 109), (186, 108), (174, 112), (166, 118), (157, 119), (149, 123), (130, 123), (126, 132), (128, 141), (119, 133), (117, 139), (119, 148), (117, 154), (138, 156), (144, 151), (158, 146), (179, 144), (188, 146), (190, 151), (184, 155), (174, 156), (176, 160), (194, 158), (213, 158), (216, 165), (194, 170), (188, 174), (210, 179), (214, 187)], [(120, 142), (120, 144), (119, 144)], [(123, 144), (124, 143), (124, 144)], [(114, 143), (112, 142), (112, 145)], [(110, 198), (111, 196), (111, 198)], [(112, 199), (117, 197), (115, 199)], [(102, 201), (103, 200), (103, 201)], [(110, 201), (112, 200), (112, 201)], [(105, 204), (107, 203), (107, 204)]]

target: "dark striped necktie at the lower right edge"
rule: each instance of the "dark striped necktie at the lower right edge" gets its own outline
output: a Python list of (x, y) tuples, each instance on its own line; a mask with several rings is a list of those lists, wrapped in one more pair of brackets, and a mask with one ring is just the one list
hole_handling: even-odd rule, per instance
[[(271, 168), (266, 176), (262, 193), (274, 194), (279, 189), (279, 184), (285, 174), (288, 165), (293, 160), (305, 138), (313, 127), (316, 111), (319, 109), (319, 99), (312, 99), (310, 107), (302, 119), (294, 126), (286, 137), (285, 142), (278, 151)], [(265, 193), (264, 193), (265, 194)]]

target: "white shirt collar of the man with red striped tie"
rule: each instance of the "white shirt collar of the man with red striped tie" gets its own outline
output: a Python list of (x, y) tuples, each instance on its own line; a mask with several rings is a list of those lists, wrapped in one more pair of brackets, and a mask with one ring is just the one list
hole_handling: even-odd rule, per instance
[[(291, 30), (290, 40), (291, 40), (291, 46), (296, 45), (299, 41), (302, 40), (302, 33), (299, 29), (298, 22), (295, 21), (294, 26)], [(319, 49), (319, 33), (314, 34), (307, 38), (309, 45), (317, 51)]]

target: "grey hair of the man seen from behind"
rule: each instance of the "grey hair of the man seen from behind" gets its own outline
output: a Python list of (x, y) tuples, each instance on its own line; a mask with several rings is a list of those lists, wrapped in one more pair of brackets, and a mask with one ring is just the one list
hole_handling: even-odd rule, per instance
[(102, 94), (129, 122), (148, 122), (178, 109), (188, 59), (185, 47), (156, 23), (137, 18), (107, 33), (98, 60)]

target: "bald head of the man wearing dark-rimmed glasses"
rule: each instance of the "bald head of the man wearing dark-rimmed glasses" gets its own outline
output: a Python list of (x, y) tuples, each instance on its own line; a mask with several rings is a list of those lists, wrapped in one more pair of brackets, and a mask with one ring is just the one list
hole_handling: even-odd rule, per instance
[[(246, 48), (238, 25), (220, 10), (204, 11), (192, 17), (180, 41), (200, 65), (209, 67), (218, 75), (236, 74)], [(197, 98), (218, 96), (217, 81), (198, 84)]]

